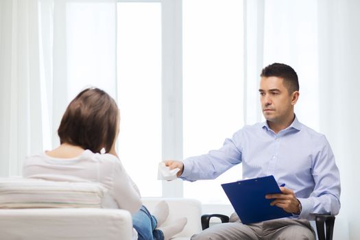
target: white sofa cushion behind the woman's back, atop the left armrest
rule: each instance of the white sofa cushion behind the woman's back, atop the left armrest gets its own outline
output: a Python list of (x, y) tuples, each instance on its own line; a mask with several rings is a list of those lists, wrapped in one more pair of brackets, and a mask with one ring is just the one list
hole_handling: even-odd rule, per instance
[(0, 178), (0, 208), (100, 208), (105, 191), (93, 182)]

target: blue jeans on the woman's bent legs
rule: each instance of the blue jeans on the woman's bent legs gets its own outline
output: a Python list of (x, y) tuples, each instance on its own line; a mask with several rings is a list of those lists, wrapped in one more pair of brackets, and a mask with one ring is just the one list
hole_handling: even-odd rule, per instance
[(132, 226), (138, 232), (139, 240), (164, 240), (163, 232), (155, 229), (156, 224), (158, 221), (145, 206), (132, 215)]

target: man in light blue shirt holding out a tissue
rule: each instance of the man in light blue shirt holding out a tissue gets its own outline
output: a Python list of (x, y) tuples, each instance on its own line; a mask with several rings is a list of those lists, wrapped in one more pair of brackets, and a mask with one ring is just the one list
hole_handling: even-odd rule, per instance
[(339, 170), (326, 137), (298, 121), (298, 75), (286, 64), (274, 63), (261, 72), (260, 99), (265, 123), (246, 125), (226, 139), (223, 147), (183, 161), (166, 160), (180, 168), (183, 180), (217, 178), (239, 163), (243, 178), (273, 175), (282, 194), (265, 197), (292, 217), (241, 224), (235, 213), (230, 223), (217, 224), (192, 239), (315, 239), (309, 224), (314, 213), (337, 215), (340, 208)]

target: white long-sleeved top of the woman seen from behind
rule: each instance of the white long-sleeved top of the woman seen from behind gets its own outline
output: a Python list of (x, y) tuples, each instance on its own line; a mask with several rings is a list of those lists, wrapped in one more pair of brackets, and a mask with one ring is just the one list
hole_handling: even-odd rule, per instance
[(107, 189), (104, 208), (121, 208), (135, 213), (141, 208), (136, 184), (120, 160), (112, 154), (85, 150), (76, 158), (53, 158), (46, 153), (28, 156), (23, 164), (24, 178), (66, 182), (97, 182)]

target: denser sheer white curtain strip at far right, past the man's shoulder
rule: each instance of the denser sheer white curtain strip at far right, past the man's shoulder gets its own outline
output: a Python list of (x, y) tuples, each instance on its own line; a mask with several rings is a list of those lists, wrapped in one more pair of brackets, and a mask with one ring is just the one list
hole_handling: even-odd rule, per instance
[(341, 176), (335, 239), (359, 239), (360, 2), (318, 1), (320, 130), (330, 141)]

